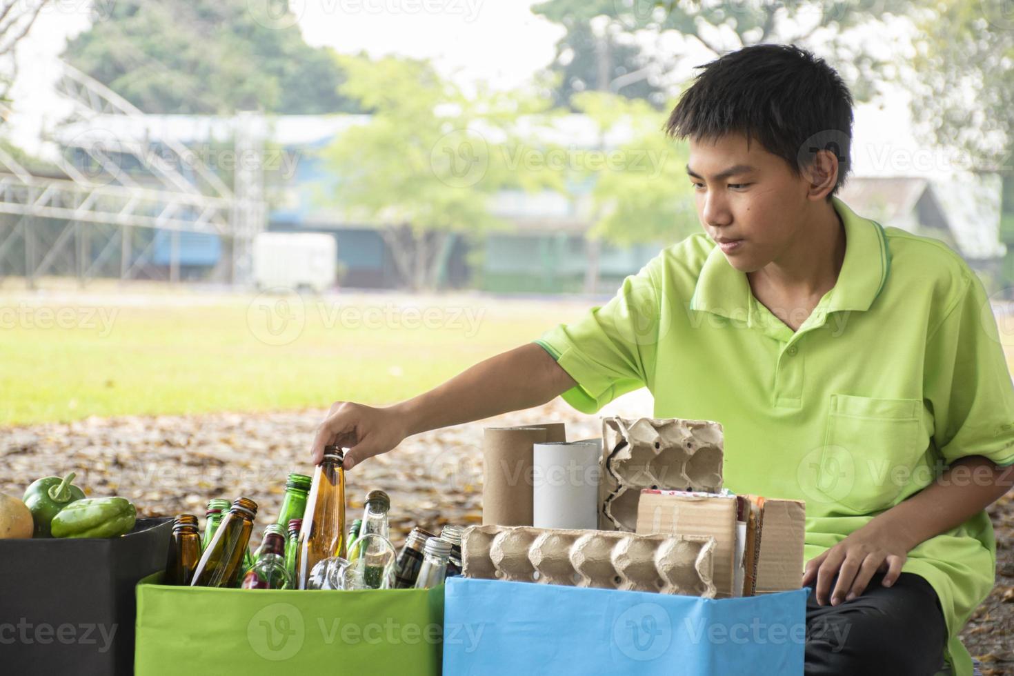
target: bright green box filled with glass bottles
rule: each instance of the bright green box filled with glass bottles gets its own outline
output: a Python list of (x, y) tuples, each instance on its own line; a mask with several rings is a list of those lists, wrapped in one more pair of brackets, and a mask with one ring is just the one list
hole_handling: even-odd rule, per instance
[(137, 586), (134, 669), (149, 674), (440, 674), (443, 585), (307, 591)]

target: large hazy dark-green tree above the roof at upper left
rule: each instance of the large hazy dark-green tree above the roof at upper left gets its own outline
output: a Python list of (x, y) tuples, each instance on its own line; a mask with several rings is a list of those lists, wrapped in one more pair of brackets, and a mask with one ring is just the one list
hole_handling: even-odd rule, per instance
[(291, 14), (255, 11), (267, 1), (97, 3), (63, 58), (145, 112), (358, 112), (333, 50), (309, 47), (280, 20)]

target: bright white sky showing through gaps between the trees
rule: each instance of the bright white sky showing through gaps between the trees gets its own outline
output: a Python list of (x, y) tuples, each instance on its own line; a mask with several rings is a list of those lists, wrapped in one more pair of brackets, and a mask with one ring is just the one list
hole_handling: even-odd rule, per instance
[[(532, 14), (533, 0), (290, 0), (292, 16), (252, 9), (259, 6), (258, 0), (248, 3), (255, 18), (269, 27), (296, 20), (312, 46), (343, 53), (365, 50), (371, 57), (428, 58), (465, 87), (476, 80), (498, 88), (530, 81), (552, 61), (555, 44), (564, 33), (561, 26)], [(97, 5), (99, 11), (103, 6), (108, 5)], [(88, 8), (88, 0), (53, 0), (18, 48), (19, 73), (12, 90), (17, 115), (11, 129), (13, 140), (29, 152), (40, 147), (40, 129), (65, 109), (53, 91), (55, 64), (66, 41), (87, 28)], [(884, 31), (895, 40), (901, 32), (895, 26)], [(888, 45), (882, 35), (867, 37)], [(682, 72), (673, 74), (677, 79), (689, 76), (693, 65), (711, 58), (695, 41), (676, 36), (661, 45), (687, 53), (678, 69)], [(946, 174), (950, 170), (955, 163), (952, 158), (922, 146), (910, 120), (908, 99), (898, 88), (889, 90), (876, 104), (857, 109), (857, 174), (903, 174), (917, 169)], [(864, 152), (864, 148), (869, 150)], [(917, 157), (916, 152), (921, 154)]]

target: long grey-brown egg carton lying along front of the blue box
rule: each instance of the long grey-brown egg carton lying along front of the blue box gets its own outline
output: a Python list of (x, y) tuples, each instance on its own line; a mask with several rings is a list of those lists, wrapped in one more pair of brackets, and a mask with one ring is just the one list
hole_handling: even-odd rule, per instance
[(528, 526), (472, 526), (462, 575), (715, 598), (715, 538)]

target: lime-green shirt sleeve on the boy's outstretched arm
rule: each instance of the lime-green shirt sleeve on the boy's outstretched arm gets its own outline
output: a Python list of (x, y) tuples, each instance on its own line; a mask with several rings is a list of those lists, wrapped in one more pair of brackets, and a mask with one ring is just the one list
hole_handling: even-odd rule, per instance
[(609, 302), (535, 341), (577, 385), (564, 400), (585, 414), (644, 386), (651, 386), (661, 305), (661, 254), (624, 280)]

